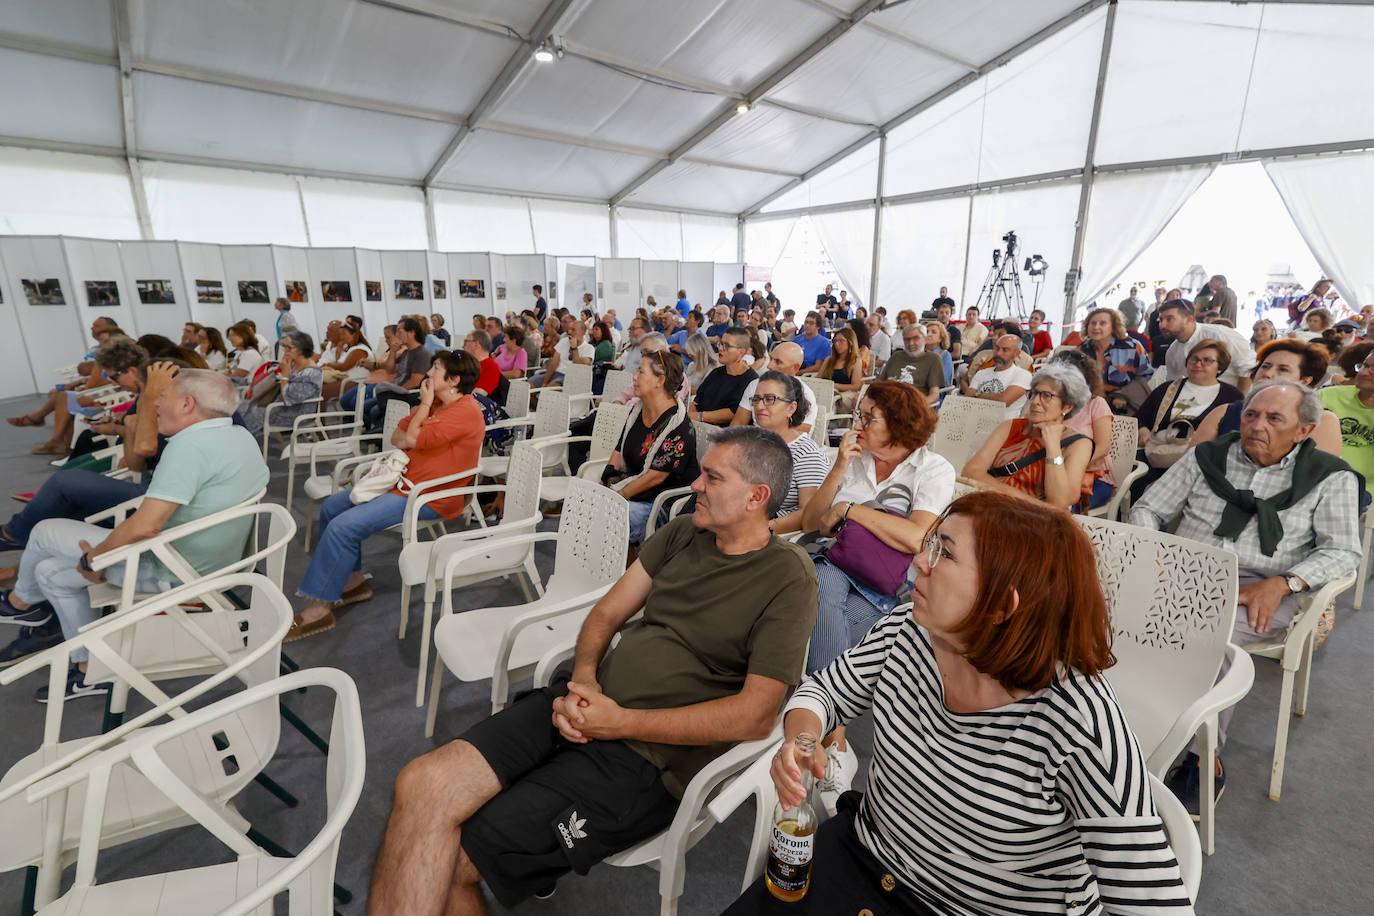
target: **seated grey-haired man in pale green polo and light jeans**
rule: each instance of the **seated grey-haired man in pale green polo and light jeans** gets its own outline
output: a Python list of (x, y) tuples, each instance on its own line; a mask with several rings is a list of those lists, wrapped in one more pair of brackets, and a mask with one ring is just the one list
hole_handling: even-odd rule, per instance
[[(180, 369), (157, 401), (158, 433), (168, 437), (162, 460), (137, 511), (113, 531), (73, 519), (40, 522), (19, 560), (14, 591), (0, 596), (0, 622), (23, 626), (0, 650), (7, 665), (71, 637), (96, 619), (87, 586), (109, 575), (122, 584), (124, 564), (93, 571), (91, 559), (256, 497), (268, 481), (267, 463), (253, 435), (229, 419), (239, 394), (227, 376), (209, 369)], [(251, 519), (235, 519), (188, 534), (173, 547), (198, 571), (207, 573), (243, 555)], [(137, 589), (157, 592), (176, 584), (151, 555), (139, 562)], [(67, 698), (109, 692), (88, 685), (85, 656), (73, 652)], [(47, 700), (47, 689), (40, 691)]]

